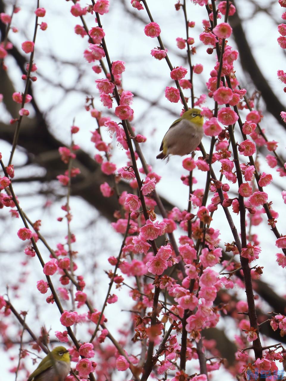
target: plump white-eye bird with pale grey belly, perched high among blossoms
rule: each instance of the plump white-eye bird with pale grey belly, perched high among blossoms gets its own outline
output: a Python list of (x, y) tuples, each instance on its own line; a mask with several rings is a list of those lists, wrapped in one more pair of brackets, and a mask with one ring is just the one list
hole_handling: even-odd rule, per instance
[(162, 152), (157, 159), (165, 159), (169, 155), (183, 156), (193, 152), (203, 137), (203, 121), (200, 109), (185, 111), (166, 132), (160, 147)]

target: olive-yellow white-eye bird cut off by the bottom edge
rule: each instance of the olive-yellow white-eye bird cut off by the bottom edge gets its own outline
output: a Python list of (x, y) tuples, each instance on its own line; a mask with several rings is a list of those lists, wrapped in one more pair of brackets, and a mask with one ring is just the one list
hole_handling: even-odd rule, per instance
[(70, 371), (70, 355), (65, 347), (55, 347), (39, 363), (27, 381), (64, 381)]

